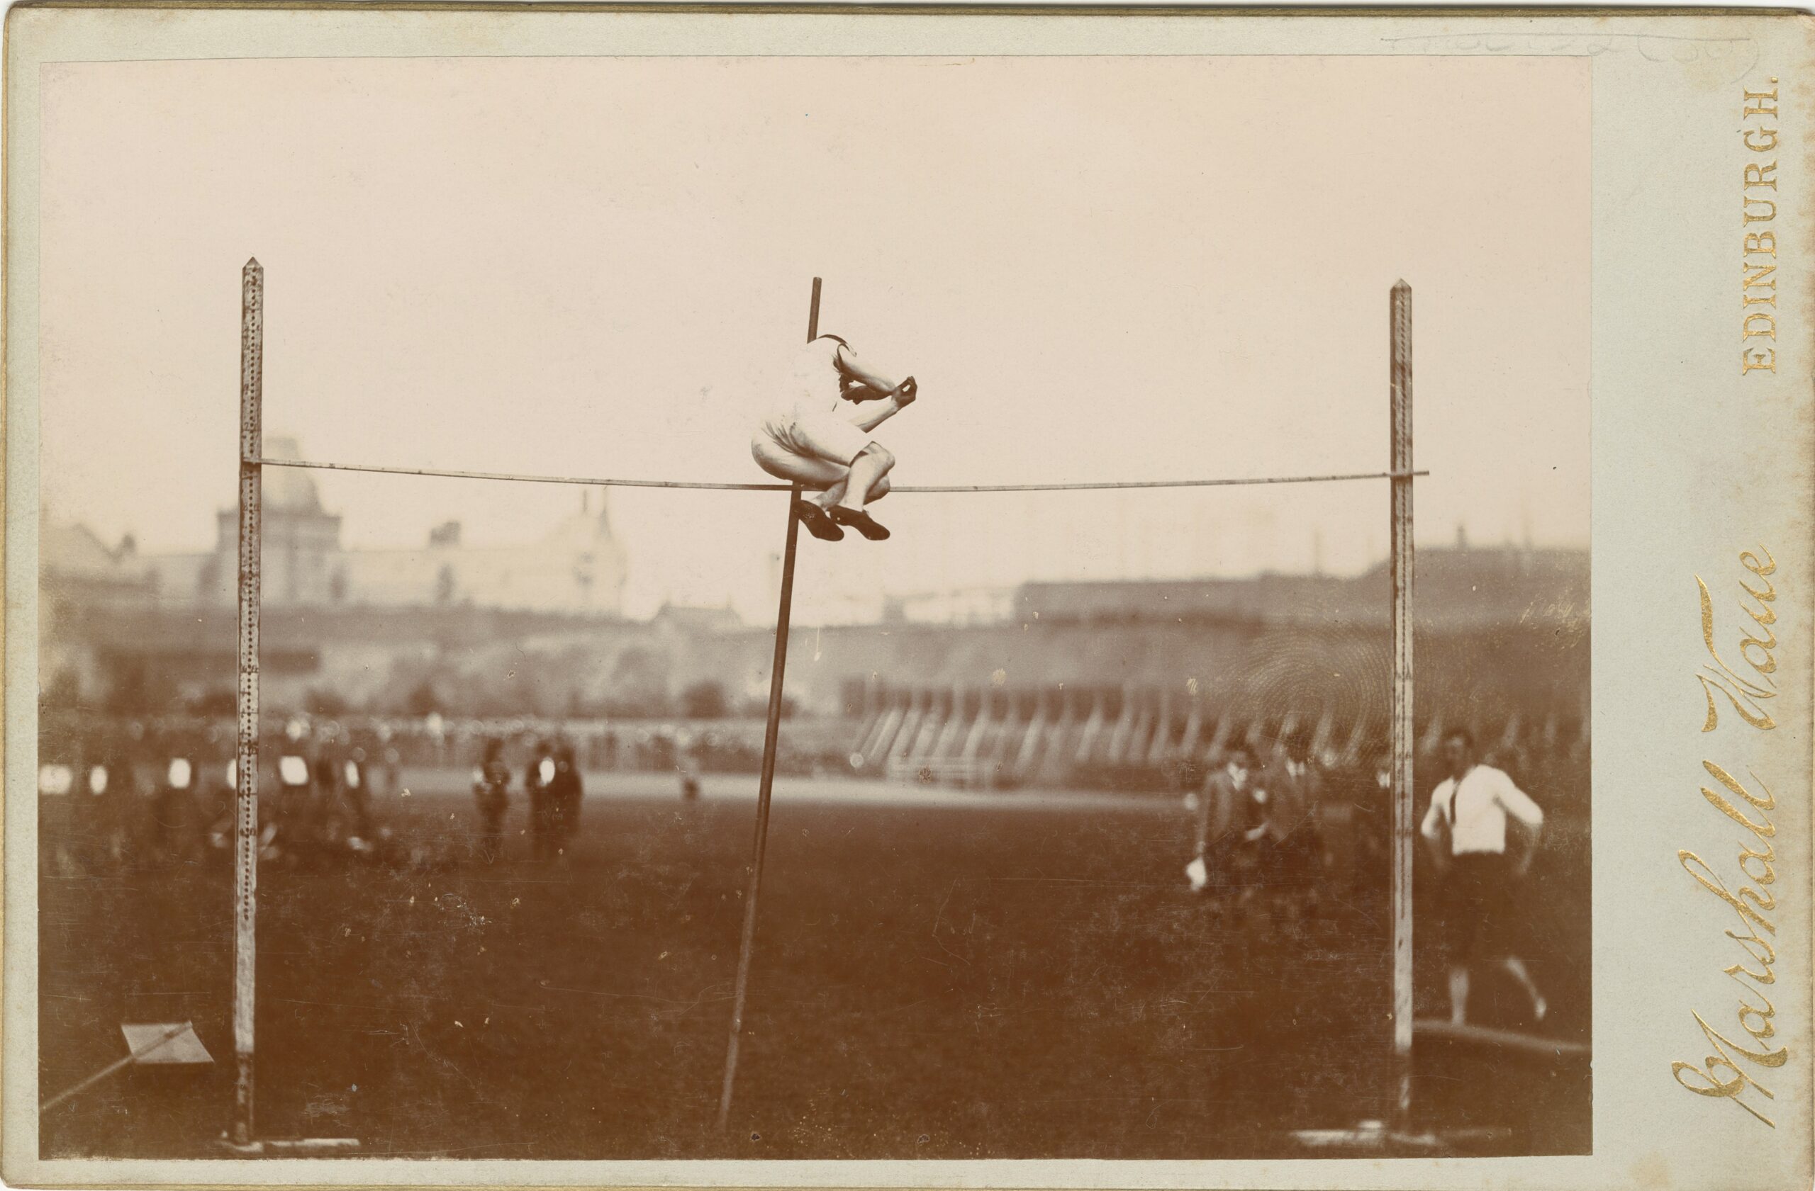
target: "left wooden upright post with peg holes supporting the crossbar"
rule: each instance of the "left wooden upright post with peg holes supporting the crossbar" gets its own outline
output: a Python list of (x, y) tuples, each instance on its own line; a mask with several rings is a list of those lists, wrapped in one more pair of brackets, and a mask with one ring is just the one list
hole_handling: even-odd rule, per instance
[(258, 968), (258, 604), (265, 270), (240, 277), (240, 747), (234, 754), (232, 1140), (252, 1144), (252, 993)]

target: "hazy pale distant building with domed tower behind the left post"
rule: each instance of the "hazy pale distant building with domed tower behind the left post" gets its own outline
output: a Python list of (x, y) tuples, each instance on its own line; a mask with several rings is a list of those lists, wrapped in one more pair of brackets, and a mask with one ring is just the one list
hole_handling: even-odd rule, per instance
[[(267, 459), (298, 459), (294, 439), (269, 439)], [(612, 533), (604, 493), (521, 546), (463, 546), (459, 522), (443, 522), (416, 549), (347, 549), (341, 517), (321, 506), (316, 480), (265, 468), (261, 560), (265, 607), (495, 607), (623, 615), (624, 549)], [(238, 600), (240, 511), (216, 515), (214, 549), (149, 555), (160, 604), (231, 605)]]

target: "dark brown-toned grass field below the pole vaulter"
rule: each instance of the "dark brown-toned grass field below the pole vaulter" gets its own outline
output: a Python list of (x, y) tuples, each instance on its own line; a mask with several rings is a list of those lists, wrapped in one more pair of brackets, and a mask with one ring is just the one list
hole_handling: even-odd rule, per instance
[[(1385, 874), (1296, 926), (1225, 921), (1185, 892), (1176, 803), (797, 781), (721, 1137), (753, 779), (688, 805), (659, 774), (592, 781), (564, 865), (514, 838), (488, 867), (465, 778), (407, 774), (410, 798), (379, 807), (437, 863), (261, 872), (261, 1135), (485, 1158), (1185, 1158), (1290, 1153), (1287, 1129), (1383, 1111)], [(1586, 1041), (1586, 843), (1534, 876), (1546, 1030)], [(120, 1057), (122, 1021), (192, 1019), (218, 1059), (54, 1109), (45, 1157), (200, 1155), (227, 1126), (229, 899), (220, 861), (42, 879), (44, 1093)], [(1434, 934), (1421, 1015), (1441, 1010)], [(1516, 1024), (1479, 983), (1479, 1015)], [(1586, 1070), (1419, 1059), (1423, 1113), (1512, 1126), (1490, 1149), (1588, 1149)]]

